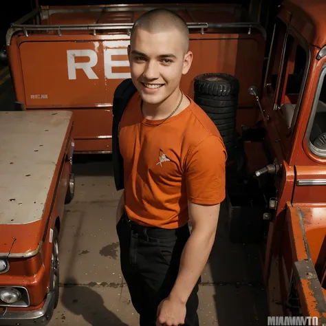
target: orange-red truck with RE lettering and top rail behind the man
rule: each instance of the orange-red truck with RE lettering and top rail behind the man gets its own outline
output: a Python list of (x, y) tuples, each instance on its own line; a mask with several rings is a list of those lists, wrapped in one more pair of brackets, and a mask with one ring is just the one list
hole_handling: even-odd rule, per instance
[[(127, 45), (133, 21), (159, 5), (43, 6), (12, 24), (6, 37), (17, 102), (23, 109), (74, 112), (76, 153), (111, 153), (113, 92), (130, 77)], [(194, 53), (182, 87), (226, 72), (241, 82), (241, 114), (250, 118), (250, 85), (260, 84), (265, 31), (243, 21), (237, 5), (169, 4), (187, 21)], [(252, 119), (252, 118), (251, 118)]]

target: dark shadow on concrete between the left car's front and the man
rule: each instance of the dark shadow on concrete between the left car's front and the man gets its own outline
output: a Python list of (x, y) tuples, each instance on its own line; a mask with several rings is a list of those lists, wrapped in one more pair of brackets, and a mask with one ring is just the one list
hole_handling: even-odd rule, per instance
[(92, 326), (128, 326), (104, 305), (102, 296), (88, 286), (77, 285), (74, 278), (65, 281), (61, 303)]

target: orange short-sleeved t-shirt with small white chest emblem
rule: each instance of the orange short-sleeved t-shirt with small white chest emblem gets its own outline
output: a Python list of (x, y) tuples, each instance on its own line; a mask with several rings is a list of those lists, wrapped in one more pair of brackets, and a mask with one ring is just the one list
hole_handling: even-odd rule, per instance
[(162, 120), (142, 115), (137, 91), (124, 110), (124, 206), (138, 224), (178, 228), (188, 222), (188, 200), (219, 204), (225, 198), (224, 142), (213, 121), (188, 99), (186, 109), (159, 126)]

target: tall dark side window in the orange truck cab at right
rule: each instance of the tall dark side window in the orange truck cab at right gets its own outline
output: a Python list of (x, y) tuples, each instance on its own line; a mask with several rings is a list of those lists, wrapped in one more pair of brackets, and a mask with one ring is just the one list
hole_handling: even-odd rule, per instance
[[(296, 118), (307, 68), (309, 45), (293, 28), (276, 20), (268, 68), (263, 88), (263, 109), (267, 118), (266, 129), (274, 142), (274, 155), (282, 162), (289, 162)], [(276, 145), (276, 144), (279, 144)]]

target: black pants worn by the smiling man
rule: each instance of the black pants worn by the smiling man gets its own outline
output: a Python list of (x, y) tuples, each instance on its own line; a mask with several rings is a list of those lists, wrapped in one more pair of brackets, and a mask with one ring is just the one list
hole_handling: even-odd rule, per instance
[[(155, 326), (157, 306), (169, 296), (177, 278), (182, 250), (190, 235), (188, 226), (175, 230), (146, 228), (124, 213), (117, 233), (121, 270), (133, 307), (140, 314), (140, 325)], [(198, 283), (186, 303), (186, 326), (199, 325)]]

